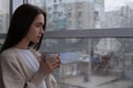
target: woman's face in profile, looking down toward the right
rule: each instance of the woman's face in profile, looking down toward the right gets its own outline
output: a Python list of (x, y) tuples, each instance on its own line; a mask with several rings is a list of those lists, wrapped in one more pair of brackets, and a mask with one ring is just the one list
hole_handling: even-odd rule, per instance
[(29, 42), (39, 43), (41, 36), (44, 33), (43, 25), (44, 25), (44, 16), (43, 14), (39, 14), (32, 22), (25, 38)]

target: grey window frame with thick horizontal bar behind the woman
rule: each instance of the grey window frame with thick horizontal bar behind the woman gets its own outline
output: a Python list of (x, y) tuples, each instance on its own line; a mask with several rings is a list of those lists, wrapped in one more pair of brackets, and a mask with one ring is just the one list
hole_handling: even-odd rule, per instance
[[(23, 0), (23, 3), (28, 3)], [(10, 0), (10, 16), (13, 10), (13, 1)], [(0, 38), (6, 37), (6, 33), (0, 33)], [(86, 30), (63, 30), (63, 31), (47, 31), (44, 38), (101, 38), (101, 37), (133, 37), (133, 28), (116, 28), (116, 29), (86, 29)]]

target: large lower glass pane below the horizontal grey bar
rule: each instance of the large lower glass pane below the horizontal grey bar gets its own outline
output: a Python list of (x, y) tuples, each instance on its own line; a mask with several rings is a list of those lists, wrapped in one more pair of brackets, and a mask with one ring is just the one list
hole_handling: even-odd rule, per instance
[(60, 53), (59, 88), (133, 87), (133, 38), (45, 38), (40, 51)]

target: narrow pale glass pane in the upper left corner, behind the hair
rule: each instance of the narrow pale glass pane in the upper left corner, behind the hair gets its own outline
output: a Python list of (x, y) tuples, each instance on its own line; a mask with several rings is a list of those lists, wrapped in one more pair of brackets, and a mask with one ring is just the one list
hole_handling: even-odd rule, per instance
[(0, 33), (7, 32), (9, 16), (9, 0), (0, 0)]

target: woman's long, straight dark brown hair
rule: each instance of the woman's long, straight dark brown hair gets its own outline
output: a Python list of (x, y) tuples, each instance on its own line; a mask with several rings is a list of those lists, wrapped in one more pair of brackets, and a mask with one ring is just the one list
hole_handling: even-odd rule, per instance
[[(44, 16), (44, 26), (45, 30), (45, 23), (47, 23), (47, 13), (43, 12), (40, 8), (32, 6), (32, 4), (22, 4), (13, 13), (10, 22), (10, 26), (8, 30), (8, 34), (6, 37), (6, 41), (1, 47), (0, 52), (3, 52), (7, 48), (10, 48), (14, 45), (17, 45), (28, 33), (29, 28), (31, 26), (33, 20), (39, 15), (43, 14)], [(43, 36), (42, 36), (43, 37)], [(33, 48), (39, 50), (41, 45), (41, 41), (39, 43), (30, 43), (30, 46), (33, 46)]]

